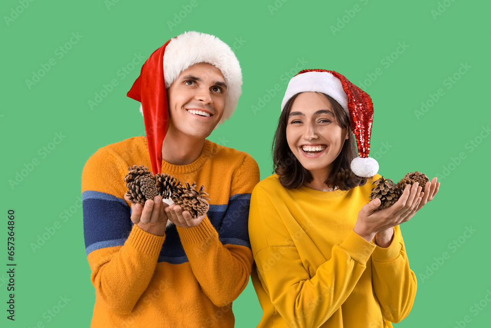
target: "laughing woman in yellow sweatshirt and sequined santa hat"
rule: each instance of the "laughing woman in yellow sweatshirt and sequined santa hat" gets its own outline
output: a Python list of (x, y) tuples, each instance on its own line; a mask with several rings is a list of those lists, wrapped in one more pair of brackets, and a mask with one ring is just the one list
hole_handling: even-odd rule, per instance
[(372, 106), (337, 72), (304, 70), (290, 81), (274, 136), (275, 174), (256, 185), (249, 210), (258, 327), (382, 328), (409, 314), (417, 283), (399, 224), (439, 183), (408, 185), (386, 209), (369, 202), (380, 178), (367, 158)]

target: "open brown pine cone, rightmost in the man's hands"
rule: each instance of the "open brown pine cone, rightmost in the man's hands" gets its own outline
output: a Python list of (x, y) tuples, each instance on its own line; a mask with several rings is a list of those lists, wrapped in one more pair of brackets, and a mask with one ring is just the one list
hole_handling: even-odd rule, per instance
[(196, 190), (196, 182), (193, 182), (192, 185), (186, 182), (186, 187), (177, 186), (171, 197), (181, 209), (189, 211), (193, 218), (197, 218), (205, 214), (210, 207), (207, 202), (210, 198), (206, 197), (208, 194), (204, 190), (203, 185), (199, 190)]

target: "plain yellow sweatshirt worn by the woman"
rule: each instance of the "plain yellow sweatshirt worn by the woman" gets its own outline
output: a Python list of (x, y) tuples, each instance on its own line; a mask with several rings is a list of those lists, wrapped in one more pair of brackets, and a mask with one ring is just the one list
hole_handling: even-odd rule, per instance
[(417, 283), (399, 226), (387, 248), (353, 231), (379, 177), (348, 191), (286, 189), (277, 175), (256, 185), (249, 236), (258, 328), (382, 328), (406, 318)]

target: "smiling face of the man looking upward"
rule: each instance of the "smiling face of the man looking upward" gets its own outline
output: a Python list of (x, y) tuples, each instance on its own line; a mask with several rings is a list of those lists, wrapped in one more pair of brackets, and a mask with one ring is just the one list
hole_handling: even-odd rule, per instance
[(220, 70), (209, 63), (197, 63), (182, 71), (167, 89), (167, 133), (208, 137), (223, 115), (226, 91)]

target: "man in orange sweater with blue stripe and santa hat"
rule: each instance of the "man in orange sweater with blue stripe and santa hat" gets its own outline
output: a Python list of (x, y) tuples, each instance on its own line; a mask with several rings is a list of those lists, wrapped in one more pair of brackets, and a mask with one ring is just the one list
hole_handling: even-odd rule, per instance
[[(146, 137), (99, 149), (82, 173), (91, 327), (234, 327), (232, 301), (252, 266), (247, 218), (259, 169), (205, 138), (232, 115), (241, 86), (234, 53), (209, 34), (172, 38), (142, 66), (128, 96), (141, 102)], [(133, 165), (203, 184), (207, 214), (192, 218), (161, 196), (132, 205), (123, 179)]]

